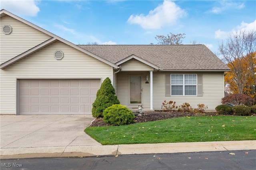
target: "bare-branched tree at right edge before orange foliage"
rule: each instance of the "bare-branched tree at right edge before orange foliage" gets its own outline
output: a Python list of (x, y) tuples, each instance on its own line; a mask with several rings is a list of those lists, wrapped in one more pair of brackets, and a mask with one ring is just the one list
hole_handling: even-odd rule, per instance
[[(255, 57), (256, 51), (256, 32), (255, 31), (236, 31), (231, 34), (225, 41), (218, 45), (218, 51), (223, 57), (223, 61), (228, 64), (233, 71), (238, 92), (243, 93), (244, 86), (249, 76), (255, 77)], [(245, 56), (249, 55), (249, 60), (245, 61)], [(244, 68), (244, 62), (249, 63), (249, 68)], [(245, 70), (248, 69), (248, 70)]]

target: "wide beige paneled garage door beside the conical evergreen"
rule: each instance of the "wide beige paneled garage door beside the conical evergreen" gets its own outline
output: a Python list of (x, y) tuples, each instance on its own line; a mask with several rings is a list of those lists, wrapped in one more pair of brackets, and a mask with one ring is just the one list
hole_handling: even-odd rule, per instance
[(91, 114), (100, 79), (18, 80), (18, 114)]

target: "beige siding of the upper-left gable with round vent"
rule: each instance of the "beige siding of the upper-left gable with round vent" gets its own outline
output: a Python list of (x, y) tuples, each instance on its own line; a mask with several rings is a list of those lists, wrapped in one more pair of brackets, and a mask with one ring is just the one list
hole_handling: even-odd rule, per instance
[[(3, 33), (2, 27), (4, 25), (10, 25), (12, 27), (11, 34), (6, 35)], [(1, 18), (0, 29), (0, 64), (51, 38), (49, 35), (10, 16)]]

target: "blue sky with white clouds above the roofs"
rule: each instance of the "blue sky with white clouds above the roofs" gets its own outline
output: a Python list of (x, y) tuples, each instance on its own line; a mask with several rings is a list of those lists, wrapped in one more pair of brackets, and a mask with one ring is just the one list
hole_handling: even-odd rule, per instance
[(185, 33), (214, 53), (240, 29), (256, 29), (256, 1), (0, 0), (0, 8), (76, 45), (157, 44), (156, 35)]

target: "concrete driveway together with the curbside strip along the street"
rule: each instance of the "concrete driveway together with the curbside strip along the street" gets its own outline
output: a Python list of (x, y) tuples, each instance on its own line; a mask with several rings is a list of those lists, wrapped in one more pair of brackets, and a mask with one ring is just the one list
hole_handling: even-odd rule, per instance
[(0, 158), (255, 150), (256, 141), (101, 145), (84, 133), (91, 115), (1, 115)]

